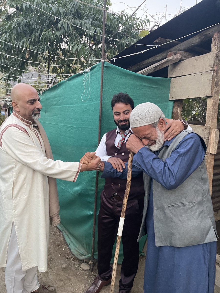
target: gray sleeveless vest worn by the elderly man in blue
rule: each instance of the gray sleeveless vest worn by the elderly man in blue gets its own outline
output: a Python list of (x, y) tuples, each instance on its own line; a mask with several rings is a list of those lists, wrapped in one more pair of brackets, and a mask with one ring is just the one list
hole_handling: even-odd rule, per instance
[[(169, 147), (162, 148), (158, 157), (165, 161), (190, 132), (184, 130), (178, 134)], [(203, 139), (200, 139), (204, 144)], [(150, 184), (151, 178), (144, 173), (145, 202), (138, 241), (145, 234)], [(217, 240), (205, 159), (176, 189), (167, 190), (153, 180), (153, 204), (156, 246), (184, 247)]]

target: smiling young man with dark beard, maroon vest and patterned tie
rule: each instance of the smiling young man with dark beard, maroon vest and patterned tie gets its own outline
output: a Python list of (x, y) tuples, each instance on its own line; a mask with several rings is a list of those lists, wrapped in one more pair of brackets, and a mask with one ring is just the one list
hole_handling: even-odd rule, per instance
[[(125, 167), (129, 151), (126, 142), (132, 133), (129, 117), (134, 108), (134, 102), (127, 93), (118, 93), (111, 100), (114, 122), (117, 126), (101, 139), (96, 150), (102, 161), (108, 161), (118, 171)], [(180, 121), (168, 120), (165, 131), (170, 139), (183, 130)], [(173, 134), (172, 134), (173, 133)], [(83, 161), (80, 161), (83, 163)], [(119, 292), (129, 293), (138, 270), (139, 244), (138, 233), (141, 226), (144, 206), (143, 174), (132, 178), (131, 189), (127, 203), (126, 217), (122, 234), (123, 261), (121, 265), (121, 280)], [(98, 215), (98, 277), (87, 289), (86, 293), (98, 293), (102, 287), (110, 284), (112, 268), (110, 265), (112, 248), (117, 235), (121, 216), (126, 180), (106, 178), (104, 190), (101, 193), (101, 205)]]

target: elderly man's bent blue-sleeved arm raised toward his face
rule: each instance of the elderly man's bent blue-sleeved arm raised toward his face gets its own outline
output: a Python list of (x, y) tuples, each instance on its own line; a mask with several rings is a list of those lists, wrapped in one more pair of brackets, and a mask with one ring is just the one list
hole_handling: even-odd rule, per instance
[(165, 161), (143, 147), (134, 156), (133, 165), (167, 189), (182, 184), (202, 163), (205, 150), (195, 133), (187, 134)]

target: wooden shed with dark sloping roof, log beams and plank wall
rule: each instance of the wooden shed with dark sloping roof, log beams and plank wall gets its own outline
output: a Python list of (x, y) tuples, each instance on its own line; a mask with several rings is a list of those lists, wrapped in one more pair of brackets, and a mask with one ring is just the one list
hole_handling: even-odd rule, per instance
[[(174, 119), (182, 119), (183, 99), (207, 97), (205, 125), (191, 127), (207, 144), (206, 164), (210, 192), (214, 155), (219, 140), (219, 15), (219, 0), (203, 0), (119, 53), (111, 61), (112, 64), (139, 74), (171, 78), (169, 100), (174, 101)], [(132, 55), (127, 56), (130, 54)], [(220, 209), (220, 197), (218, 202), (216, 204), (215, 198), (215, 206)]]

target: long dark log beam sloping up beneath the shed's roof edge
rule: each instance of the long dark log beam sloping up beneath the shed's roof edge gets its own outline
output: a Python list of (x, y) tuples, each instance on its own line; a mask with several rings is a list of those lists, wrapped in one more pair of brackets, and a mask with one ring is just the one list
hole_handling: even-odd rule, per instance
[[(192, 49), (192, 47), (195, 47), (199, 45), (200, 43), (204, 43), (207, 40), (210, 40), (213, 34), (215, 32), (218, 32), (219, 30), (220, 30), (220, 24), (215, 25), (211, 28), (208, 28), (207, 30), (204, 30), (202, 33), (199, 33), (198, 35), (195, 35), (194, 37), (190, 38), (189, 40), (186, 40), (185, 42), (182, 42), (179, 45), (172, 47), (172, 51), (187, 51), (188, 49)], [(127, 69), (133, 72), (140, 71), (156, 62), (159, 62), (162, 59), (165, 59), (169, 52), (170, 52), (170, 49), (167, 49), (161, 52), (160, 54), (150, 57), (149, 59), (146, 59), (144, 61), (141, 61), (138, 64), (135, 64)], [(147, 53), (145, 54), (147, 56)]]

